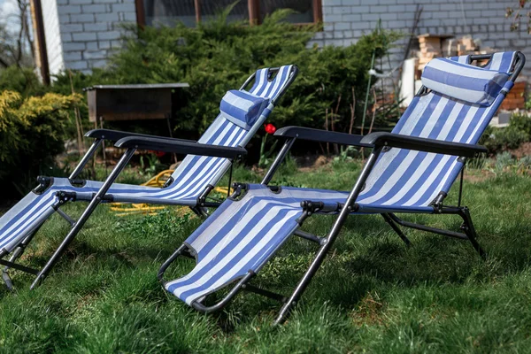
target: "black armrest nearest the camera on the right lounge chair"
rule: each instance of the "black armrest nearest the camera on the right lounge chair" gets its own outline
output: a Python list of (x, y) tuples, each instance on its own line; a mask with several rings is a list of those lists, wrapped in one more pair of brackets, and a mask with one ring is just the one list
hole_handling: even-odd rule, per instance
[(443, 140), (383, 132), (366, 135), (361, 142), (371, 144), (374, 147), (389, 146), (392, 148), (434, 152), (436, 154), (465, 158), (473, 158), (481, 152), (488, 152), (487, 148), (481, 145), (472, 145), (463, 142), (445, 142)]

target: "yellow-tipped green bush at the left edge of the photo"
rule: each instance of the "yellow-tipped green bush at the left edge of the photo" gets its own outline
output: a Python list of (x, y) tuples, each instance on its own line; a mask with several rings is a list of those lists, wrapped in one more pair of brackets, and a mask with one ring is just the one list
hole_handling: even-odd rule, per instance
[[(23, 99), (14, 91), (0, 93), (0, 185), (13, 196), (52, 165), (64, 149), (69, 112), (80, 96), (48, 93)], [(14, 187), (14, 189), (13, 189)]]

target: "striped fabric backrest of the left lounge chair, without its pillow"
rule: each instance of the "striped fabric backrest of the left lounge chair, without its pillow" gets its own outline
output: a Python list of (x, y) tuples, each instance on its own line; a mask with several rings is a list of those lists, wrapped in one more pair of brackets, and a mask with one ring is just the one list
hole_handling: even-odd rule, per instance
[[(281, 66), (272, 79), (270, 69), (260, 69), (255, 73), (254, 84), (249, 92), (269, 98), (269, 104), (249, 130), (238, 127), (219, 113), (212, 125), (206, 129), (198, 142), (220, 146), (242, 146), (250, 141), (259, 127), (264, 124), (274, 107), (274, 100), (289, 85), (294, 74), (294, 65)], [(243, 89), (241, 89), (243, 90)], [(221, 98), (221, 97), (220, 97)], [(215, 185), (227, 171), (230, 161), (227, 158), (211, 158), (188, 155), (172, 174), (173, 184), (166, 187), (170, 199), (192, 199), (200, 196), (206, 186)]]

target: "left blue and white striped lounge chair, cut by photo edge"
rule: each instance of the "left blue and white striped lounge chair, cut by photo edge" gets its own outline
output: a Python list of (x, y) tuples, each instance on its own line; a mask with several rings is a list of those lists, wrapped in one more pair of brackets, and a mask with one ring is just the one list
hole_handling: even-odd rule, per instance
[[(86, 136), (95, 138), (95, 141), (69, 178), (40, 177), (40, 185), (0, 218), (0, 264), (8, 267), (3, 273), (8, 287), (12, 288), (12, 281), (7, 269), (12, 267), (34, 273), (34, 288), (50, 272), (101, 202), (187, 205), (197, 213), (202, 213), (204, 207), (219, 206), (219, 203), (207, 200), (208, 194), (232, 166), (233, 160), (246, 153), (243, 147), (264, 124), (297, 73), (296, 65), (266, 68), (253, 73), (241, 89), (227, 92), (219, 105), (218, 117), (197, 142), (106, 129), (90, 131)], [(246, 91), (245, 88), (251, 83), (251, 89)], [(115, 146), (127, 150), (106, 181), (79, 180), (83, 167), (103, 140), (116, 142)], [(164, 150), (188, 156), (182, 160), (162, 189), (113, 183), (135, 150), (139, 149)], [(63, 204), (73, 201), (90, 202), (77, 221), (60, 209)], [(15, 259), (23, 252), (38, 228), (54, 212), (70, 222), (72, 228), (50, 261), (40, 272), (15, 264)], [(10, 253), (12, 256), (9, 260), (2, 259)]]

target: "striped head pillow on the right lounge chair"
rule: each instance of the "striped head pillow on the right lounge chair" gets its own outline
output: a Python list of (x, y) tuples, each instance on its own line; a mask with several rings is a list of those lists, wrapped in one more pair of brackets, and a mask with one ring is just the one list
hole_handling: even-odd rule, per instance
[(461, 64), (447, 58), (435, 58), (426, 65), (422, 84), (444, 96), (489, 106), (508, 78), (507, 73)]

